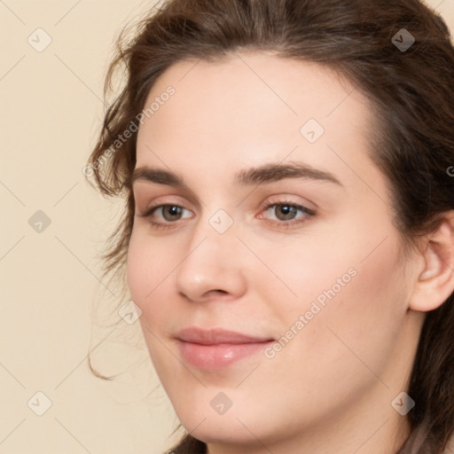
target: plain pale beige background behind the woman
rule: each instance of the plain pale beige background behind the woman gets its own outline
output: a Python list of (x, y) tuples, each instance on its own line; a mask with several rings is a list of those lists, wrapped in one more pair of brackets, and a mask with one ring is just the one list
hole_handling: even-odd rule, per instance
[[(0, 0), (0, 454), (158, 454), (179, 435), (138, 323), (107, 313), (128, 300), (100, 282), (97, 258), (121, 203), (82, 175), (114, 36), (151, 4)], [(429, 4), (454, 29), (454, 0)], [(45, 43), (38, 27), (52, 40), (41, 52), (27, 42)], [(89, 350), (116, 380), (91, 374)]]

